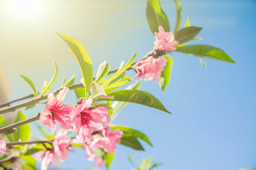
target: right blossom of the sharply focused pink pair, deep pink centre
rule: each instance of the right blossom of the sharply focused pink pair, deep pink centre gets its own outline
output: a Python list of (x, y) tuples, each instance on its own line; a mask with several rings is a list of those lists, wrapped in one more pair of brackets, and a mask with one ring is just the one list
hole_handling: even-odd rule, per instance
[(92, 99), (84, 100), (76, 106), (71, 115), (80, 143), (87, 142), (92, 137), (92, 132), (102, 130), (110, 123), (107, 108), (90, 108)]

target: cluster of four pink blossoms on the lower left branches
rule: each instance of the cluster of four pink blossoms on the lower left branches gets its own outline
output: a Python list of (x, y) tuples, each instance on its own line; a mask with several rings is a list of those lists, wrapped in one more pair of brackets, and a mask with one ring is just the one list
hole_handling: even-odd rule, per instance
[[(58, 128), (56, 121), (63, 129), (73, 129), (75, 127), (77, 137), (76, 140), (86, 149), (86, 157), (90, 161), (95, 161), (97, 166), (102, 166), (101, 157), (95, 159), (95, 151), (97, 148), (104, 149), (105, 152), (115, 152), (116, 144), (121, 141), (122, 131), (113, 130), (111, 132), (110, 114), (107, 113), (105, 107), (92, 107), (92, 99), (83, 100), (77, 106), (68, 104), (63, 105), (65, 94), (68, 87), (64, 87), (54, 98), (53, 94), (48, 95), (48, 103), (43, 112), (41, 112), (40, 120), (43, 125), (48, 125), (52, 132)], [(68, 159), (73, 142), (70, 143), (70, 137), (67, 136), (65, 130), (58, 130), (55, 140), (53, 141), (53, 149), (38, 152), (37, 157), (43, 159), (41, 169), (47, 169), (49, 164), (55, 162), (63, 162)], [(95, 135), (92, 135), (95, 132)]]

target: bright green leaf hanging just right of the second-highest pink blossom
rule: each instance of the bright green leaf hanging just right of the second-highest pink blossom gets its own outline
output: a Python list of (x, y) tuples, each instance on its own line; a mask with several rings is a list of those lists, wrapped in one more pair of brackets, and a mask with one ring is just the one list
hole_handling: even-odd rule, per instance
[(169, 84), (171, 78), (171, 69), (173, 67), (174, 61), (169, 56), (164, 56), (167, 60), (166, 67), (164, 67), (164, 71), (161, 72), (161, 77), (159, 78), (159, 85), (162, 91), (166, 89), (166, 86)]

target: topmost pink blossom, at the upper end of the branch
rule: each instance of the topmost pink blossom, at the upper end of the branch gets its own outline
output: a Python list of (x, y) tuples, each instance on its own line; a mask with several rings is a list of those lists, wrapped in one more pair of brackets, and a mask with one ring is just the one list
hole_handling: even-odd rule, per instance
[(159, 26), (159, 33), (155, 33), (156, 41), (154, 42), (154, 50), (175, 51), (178, 41), (174, 40), (174, 33), (164, 32), (164, 28)]

